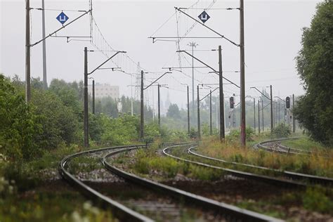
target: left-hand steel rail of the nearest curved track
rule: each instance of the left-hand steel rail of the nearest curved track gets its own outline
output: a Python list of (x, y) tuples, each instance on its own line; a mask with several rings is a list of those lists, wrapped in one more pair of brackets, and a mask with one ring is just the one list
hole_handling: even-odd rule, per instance
[(123, 204), (120, 204), (119, 202), (116, 202), (115, 200), (110, 199), (109, 197), (102, 195), (97, 190), (94, 190), (93, 188), (89, 187), (89, 185), (86, 185), (79, 181), (77, 178), (75, 178), (72, 174), (70, 174), (69, 171), (67, 171), (66, 166), (67, 163), (70, 162), (71, 159), (75, 157), (79, 157), (81, 155), (96, 153), (96, 152), (103, 152), (107, 150), (115, 150), (115, 149), (121, 149), (121, 148), (133, 148), (135, 146), (138, 147), (146, 147), (147, 145), (126, 145), (126, 146), (117, 146), (112, 148), (101, 148), (101, 149), (95, 149), (95, 150), (87, 150), (83, 152), (77, 152), (72, 155), (68, 155), (60, 162), (59, 172), (60, 175), (69, 183), (76, 186), (81, 190), (81, 192), (91, 197), (93, 200), (95, 200), (98, 203), (103, 204), (103, 207), (110, 207), (112, 209), (112, 213), (115, 214), (115, 217), (119, 218), (121, 221), (153, 221), (151, 218), (148, 218), (146, 216), (143, 216), (142, 214), (139, 214), (136, 211), (133, 211), (132, 209), (129, 209), (128, 207), (124, 206)]

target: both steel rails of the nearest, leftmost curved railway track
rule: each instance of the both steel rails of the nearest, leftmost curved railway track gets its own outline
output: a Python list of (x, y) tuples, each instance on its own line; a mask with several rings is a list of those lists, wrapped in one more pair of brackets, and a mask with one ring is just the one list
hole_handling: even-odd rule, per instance
[[(117, 153), (127, 152), (130, 150), (136, 150), (138, 148), (146, 148), (146, 147), (147, 145), (128, 145), (128, 146), (118, 146), (112, 148), (102, 148), (102, 149), (78, 152), (76, 154), (65, 157), (60, 162), (59, 171), (61, 176), (63, 176), (63, 178), (65, 178), (66, 181), (74, 185), (74, 187), (78, 188), (81, 192), (83, 192), (84, 195), (88, 196), (91, 200), (94, 200), (95, 202), (103, 204), (103, 207), (110, 208), (115, 217), (119, 218), (120, 221), (154, 221), (154, 220), (149, 216), (145, 216), (143, 214), (138, 213), (136, 211), (136, 207), (134, 207), (135, 210), (126, 207), (124, 204), (112, 200), (107, 195), (103, 195), (101, 192), (98, 192), (98, 189), (93, 189), (91, 186), (80, 181), (73, 174), (70, 174), (70, 170), (68, 168), (70, 167), (69, 166), (70, 162), (74, 158), (83, 157), (84, 155), (94, 155), (95, 157), (97, 157), (98, 155), (103, 155), (102, 162), (105, 165), (105, 167), (110, 171), (112, 171), (114, 174), (117, 174), (118, 176), (125, 178), (126, 181), (131, 181), (131, 183), (140, 184), (141, 186), (149, 188), (150, 190), (158, 190), (159, 194), (163, 194), (165, 197), (173, 196), (173, 200), (174, 199), (185, 200), (185, 202), (188, 202), (189, 205), (195, 203), (195, 205), (200, 205), (200, 208), (208, 209), (209, 211), (214, 209), (214, 212), (217, 212), (217, 214), (223, 216), (223, 218), (225, 218), (226, 221), (280, 221), (277, 218), (273, 218), (263, 214), (258, 214), (256, 212), (248, 211), (245, 209), (240, 209), (233, 205), (224, 204), (222, 202), (216, 202), (215, 200), (211, 200), (198, 195), (193, 195), (190, 192), (185, 192), (183, 190), (172, 188), (170, 186), (163, 185), (161, 183), (149, 181), (145, 178), (140, 178), (133, 174), (126, 173), (121, 169), (117, 169), (117, 167), (112, 166), (112, 164), (107, 162), (107, 159), (110, 156), (116, 155)], [(131, 204), (132, 205), (136, 204), (136, 202), (134, 203), (132, 202)], [(159, 210), (158, 206), (156, 206), (158, 205), (156, 204), (156, 202), (152, 202), (152, 204), (154, 204), (155, 210)], [(162, 205), (163, 205), (162, 207), (167, 207), (166, 204)], [(148, 207), (152, 207), (151, 204)]]

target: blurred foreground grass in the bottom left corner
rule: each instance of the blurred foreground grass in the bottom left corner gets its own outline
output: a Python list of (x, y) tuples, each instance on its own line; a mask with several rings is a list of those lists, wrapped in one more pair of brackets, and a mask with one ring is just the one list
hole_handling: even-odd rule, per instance
[[(84, 204), (82, 204), (84, 203)], [(38, 191), (0, 199), (0, 221), (115, 221), (72, 191)]]

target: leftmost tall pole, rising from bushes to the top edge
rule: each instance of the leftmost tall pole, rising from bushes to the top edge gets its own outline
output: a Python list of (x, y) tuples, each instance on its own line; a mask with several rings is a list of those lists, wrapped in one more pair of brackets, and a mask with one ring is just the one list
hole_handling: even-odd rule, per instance
[(25, 0), (25, 101), (30, 98), (30, 0)]

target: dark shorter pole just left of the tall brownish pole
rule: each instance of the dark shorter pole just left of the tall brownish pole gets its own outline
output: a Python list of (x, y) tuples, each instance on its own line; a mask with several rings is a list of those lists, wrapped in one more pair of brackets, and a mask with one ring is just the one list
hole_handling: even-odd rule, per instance
[(218, 46), (218, 83), (220, 95), (220, 141), (226, 137), (224, 129), (224, 96), (223, 96), (223, 72), (222, 72), (222, 48)]

